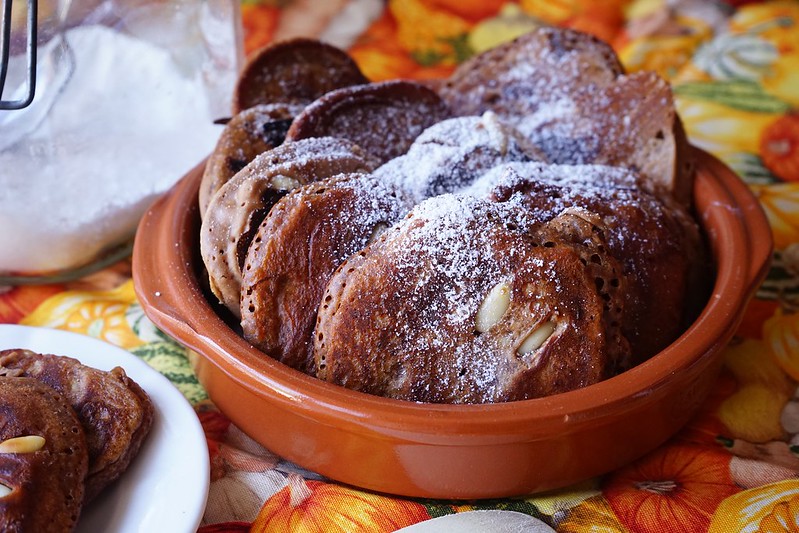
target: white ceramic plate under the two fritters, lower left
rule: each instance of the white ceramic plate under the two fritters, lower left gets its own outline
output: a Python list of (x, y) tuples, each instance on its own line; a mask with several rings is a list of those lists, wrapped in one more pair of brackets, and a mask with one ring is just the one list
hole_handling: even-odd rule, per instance
[(153, 427), (139, 455), (116, 483), (83, 509), (78, 532), (194, 532), (208, 497), (208, 447), (183, 395), (133, 354), (85, 335), (0, 325), (0, 349), (67, 355), (101, 370), (121, 366), (155, 405)]

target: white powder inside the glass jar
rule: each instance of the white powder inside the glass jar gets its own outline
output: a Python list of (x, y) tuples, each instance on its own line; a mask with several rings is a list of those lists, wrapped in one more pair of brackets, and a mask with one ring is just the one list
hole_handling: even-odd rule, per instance
[(129, 238), (221, 131), (203, 73), (169, 51), (104, 26), (66, 39), (73, 71), (46, 120), (0, 143), (0, 272), (73, 268)]

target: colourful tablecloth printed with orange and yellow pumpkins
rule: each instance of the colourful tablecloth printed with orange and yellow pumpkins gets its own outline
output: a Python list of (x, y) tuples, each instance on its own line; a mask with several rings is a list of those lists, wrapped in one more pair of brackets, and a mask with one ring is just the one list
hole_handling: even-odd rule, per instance
[(0, 322), (124, 347), (195, 406), (212, 480), (200, 531), (393, 531), (471, 509), (520, 511), (559, 532), (799, 531), (799, 2), (244, 0), (242, 15), (247, 51), (317, 36), (373, 80), (445, 76), (541, 24), (598, 35), (628, 70), (672, 82), (690, 140), (762, 202), (775, 255), (710, 398), (674, 438), (578, 486), (477, 502), (355, 490), (251, 441), (209, 401), (186, 349), (144, 315), (127, 260), (67, 284), (0, 288)]

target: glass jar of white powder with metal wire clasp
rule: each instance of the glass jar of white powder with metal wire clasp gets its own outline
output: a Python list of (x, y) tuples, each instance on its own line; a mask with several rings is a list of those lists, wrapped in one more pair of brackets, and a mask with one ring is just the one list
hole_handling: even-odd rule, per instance
[[(3, 100), (28, 89), (12, 5)], [(147, 207), (213, 149), (243, 60), (238, 0), (39, 0), (35, 96), (0, 110), (0, 285), (130, 252)]]

